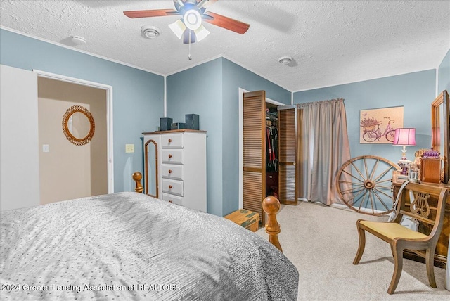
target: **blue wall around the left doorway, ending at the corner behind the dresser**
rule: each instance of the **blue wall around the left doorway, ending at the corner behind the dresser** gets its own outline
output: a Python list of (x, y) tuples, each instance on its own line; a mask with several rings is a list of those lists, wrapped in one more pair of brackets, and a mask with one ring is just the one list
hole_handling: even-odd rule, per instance
[[(134, 191), (131, 174), (142, 170), (142, 132), (156, 129), (164, 113), (164, 77), (0, 30), (0, 63), (113, 86), (115, 191)], [(135, 153), (125, 153), (134, 143)], [(106, 174), (105, 174), (106, 177)]]

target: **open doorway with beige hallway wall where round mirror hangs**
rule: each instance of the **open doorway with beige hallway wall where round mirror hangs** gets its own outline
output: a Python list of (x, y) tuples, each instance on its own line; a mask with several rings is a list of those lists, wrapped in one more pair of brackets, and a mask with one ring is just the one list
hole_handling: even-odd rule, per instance
[[(38, 72), (41, 205), (113, 193), (111, 95), (112, 87)], [(63, 116), (72, 108), (91, 113), (89, 143), (74, 143), (63, 133)]]

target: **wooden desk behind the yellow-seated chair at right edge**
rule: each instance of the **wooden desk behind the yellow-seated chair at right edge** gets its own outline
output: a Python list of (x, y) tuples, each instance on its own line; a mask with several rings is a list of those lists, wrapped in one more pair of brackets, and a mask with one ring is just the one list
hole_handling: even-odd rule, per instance
[[(401, 184), (405, 181), (404, 179), (399, 179), (397, 172), (393, 172), (392, 174), (392, 192), (394, 194), (394, 200), (397, 198), (397, 194), (399, 193)], [(429, 184), (427, 185), (433, 185), (433, 186), (444, 186), (449, 187), (448, 184)], [(436, 200), (429, 199), (430, 202), (430, 209), (431, 212), (436, 212), (436, 210), (433, 210), (432, 206), (436, 205), (433, 202), (436, 202)], [(430, 233), (430, 227), (428, 225), (422, 224), (419, 222), (418, 231), (421, 233)], [(444, 214), (444, 225), (442, 226), (441, 235), (439, 236), (439, 240), (437, 241), (436, 245), (436, 252), (435, 252), (435, 267), (442, 267), (446, 268), (446, 262), (447, 262), (447, 254), (449, 251), (449, 236), (450, 236), (450, 196), (447, 198), (446, 206), (445, 206), (445, 214)], [(405, 250), (403, 253), (404, 258), (408, 258), (409, 260), (415, 260), (418, 262), (425, 262), (425, 259), (423, 257), (420, 257), (416, 253)]]

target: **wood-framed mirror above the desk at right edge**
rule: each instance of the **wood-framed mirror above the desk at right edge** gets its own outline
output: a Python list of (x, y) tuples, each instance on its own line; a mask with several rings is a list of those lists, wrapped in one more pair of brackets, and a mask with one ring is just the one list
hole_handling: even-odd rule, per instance
[[(449, 183), (450, 177), (450, 103), (449, 93), (444, 90), (431, 103), (431, 147), (439, 151), (443, 158), (444, 167), (441, 182)], [(443, 140), (443, 141), (442, 141)]]

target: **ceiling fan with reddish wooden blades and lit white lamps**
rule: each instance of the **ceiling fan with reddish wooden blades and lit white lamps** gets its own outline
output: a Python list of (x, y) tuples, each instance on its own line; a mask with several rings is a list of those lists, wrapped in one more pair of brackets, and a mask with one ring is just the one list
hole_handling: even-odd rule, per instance
[(162, 17), (165, 15), (181, 15), (180, 20), (169, 25), (170, 29), (184, 44), (201, 41), (210, 32), (203, 26), (202, 20), (212, 25), (244, 34), (250, 25), (224, 15), (206, 11), (207, 6), (217, 0), (174, 0), (175, 9), (151, 9), (147, 11), (124, 11), (129, 18)]

